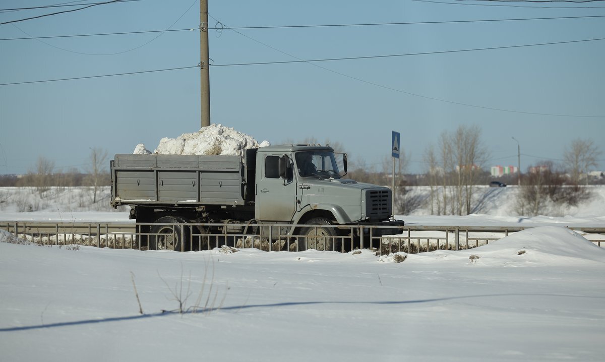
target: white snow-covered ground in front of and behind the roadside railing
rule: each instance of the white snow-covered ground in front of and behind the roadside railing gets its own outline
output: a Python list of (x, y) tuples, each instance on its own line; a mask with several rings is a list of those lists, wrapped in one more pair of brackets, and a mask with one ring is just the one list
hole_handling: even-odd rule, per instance
[[(601, 361), (605, 248), (558, 225), (605, 225), (603, 188), (561, 217), (533, 218), (499, 214), (513, 190), (485, 214), (400, 217), (550, 225), (468, 251), (181, 253), (20, 245), (2, 233), (0, 360)], [(82, 189), (28, 195), (38, 211), (4, 202), (0, 219), (128, 220), (79, 206)]]

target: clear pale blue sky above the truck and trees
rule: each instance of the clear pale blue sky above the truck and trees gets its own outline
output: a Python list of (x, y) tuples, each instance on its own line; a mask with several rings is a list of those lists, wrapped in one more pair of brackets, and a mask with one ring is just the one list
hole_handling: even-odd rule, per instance
[[(95, 1), (80, 1), (90, 4)], [(0, 2), (2, 9), (59, 1)], [(78, 4), (76, 2), (75, 4)], [(468, 4), (468, 5), (466, 5)], [(489, 5), (489, 6), (486, 6)], [(508, 5), (508, 6), (500, 6)], [(512, 6), (511, 6), (512, 5)], [(492, 165), (522, 170), (559, 162), (572, 140), (600, 146), (605, 169), (605, 41), (313, 64), (250, 62), (434, 53), (605, 38), (605, 18), (358, 27), (239, 29), (605, 15), (586, 4), (482, 1), (209, 1), (211, 122), (259, 142), (314, 137), (344, 145), (366, 165), (390, 157), (401, 133), (409, 171), (439, 134), (478, 125)], [(71, 7), (0, 12), (0, 22)], [(220, 24), (217, 22), (220, 21)], [(191, 0), (99, 5), (0, 25), (0, 39), (197, 28)], [(0, 84), (166, 68), (200, 62), (199, 31), (0, 41)], [(200, 128), (199, 70), (0, 85), (0, 173), (26, 173), (40, 156), (57, 169), (83, 168), (90, 148), (131, 153)]]

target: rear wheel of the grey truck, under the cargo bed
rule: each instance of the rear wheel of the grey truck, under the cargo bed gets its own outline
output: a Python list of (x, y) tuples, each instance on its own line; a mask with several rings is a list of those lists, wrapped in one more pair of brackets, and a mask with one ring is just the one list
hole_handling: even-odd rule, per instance
[(189, 250), (189, 228), (166, 225), (175, 223), (185, 224), (187, 220), (178, 216), (164, 216), (155, 220), (155, 225), (152, 225), (149, 231), (149, 250), (181, 251), (181, 244), (184, 251)]

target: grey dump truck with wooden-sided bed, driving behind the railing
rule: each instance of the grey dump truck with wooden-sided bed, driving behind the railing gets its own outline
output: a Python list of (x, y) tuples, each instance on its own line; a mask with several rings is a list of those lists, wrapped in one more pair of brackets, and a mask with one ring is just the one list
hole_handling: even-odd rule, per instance
[(217, 232), (200, 224), (257, 235), (277, 227), (264, 234), (286, 235), (298, 250), (340, 249), (342, 237), (400, 232), (391, 189), (344, 179), (347, 155), (338, 155), (315, 145), (267, 146), (242, 156), (116, 154), (111, 205), (131, 206), (129, 218), (146, 224), (139, 232), (148, 235), (149, 249), (192, 249), (192, 238), (174, 224), (197, 224), (196, 235)]

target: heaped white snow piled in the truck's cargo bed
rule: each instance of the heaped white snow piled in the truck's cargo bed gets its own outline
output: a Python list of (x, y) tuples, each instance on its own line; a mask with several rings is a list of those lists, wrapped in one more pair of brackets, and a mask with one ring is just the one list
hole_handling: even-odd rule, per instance
[[(155, 149), (155, 154), (221, 154), (241, 155), (247, 148), (269, 146), (266, 140), (258, 143), (245, 133), (231, 127), (212, 124), (200, 128), (194, 133), (183, 133), (176, 138), (164, 137)], [(151, 153), (140, 143), (134, 149), (135, 154)]]

